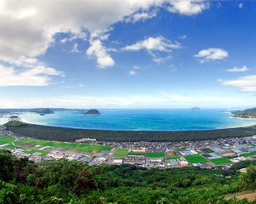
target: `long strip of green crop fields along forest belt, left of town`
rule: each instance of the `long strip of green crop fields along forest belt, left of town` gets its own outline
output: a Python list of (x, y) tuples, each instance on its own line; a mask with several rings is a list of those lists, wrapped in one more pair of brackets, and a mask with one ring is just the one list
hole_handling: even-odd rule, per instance
[(37, 139), (29, 139), (25, 138), (20, 141), (15, 142), (16, 145), (28, 147), (30, 149), (41, 149), (45, 146), (50, 146), (49, 149), (44, 150), (51, 150), (51, 147), (61, 148), (63, 150), (73, 149), (76, 152), (92, 152), (93, 150), (97, 150), (97, 152), (101, 152), (103, 150), (110, 151), (113, 149), (113, 146), (103, 146), (103, 145), (95, 145), (95, 144), (71, 144), (68, 142), (59, 142), (59, 141), (41, 141)]

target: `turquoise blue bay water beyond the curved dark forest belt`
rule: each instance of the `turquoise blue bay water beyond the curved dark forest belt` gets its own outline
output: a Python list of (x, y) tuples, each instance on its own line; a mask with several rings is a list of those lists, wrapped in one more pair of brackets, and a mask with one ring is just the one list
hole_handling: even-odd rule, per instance
[[(99, 116), (81, 116), (79, 111), (55, 114), (20, 114), (26, 122), (57, 127), (97, 130), (213, 130), (255, 125), (256, 119), (231, 118), (223, 109), (118, 109), (100, 110)], [(225, 110), (224, 110), (225, 111)]]

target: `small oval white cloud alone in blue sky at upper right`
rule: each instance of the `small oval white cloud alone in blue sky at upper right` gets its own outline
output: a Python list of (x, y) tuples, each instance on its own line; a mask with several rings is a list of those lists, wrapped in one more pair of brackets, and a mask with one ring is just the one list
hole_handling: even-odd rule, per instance
[(219, 48), (209, 48), (208, 50), (201, 50), (195, 58), (201, 58), (200, 63), (206, 63), (210, 60), (223, 60), (228, 57), (228, 52)]

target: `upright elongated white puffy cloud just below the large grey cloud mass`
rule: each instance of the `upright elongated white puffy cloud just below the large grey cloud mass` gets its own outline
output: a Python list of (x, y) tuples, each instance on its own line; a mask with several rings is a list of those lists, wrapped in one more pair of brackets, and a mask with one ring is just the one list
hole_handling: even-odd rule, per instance
[(99, 67), (105, 68), (106, 66), (114, 66), (115, 62), (110, 55), (106, 52), (106, 48), (102, 45), (102, 42), (97, 40), (90, 41), (91, 47), (86, 50), (86, 54), (97, 58)]

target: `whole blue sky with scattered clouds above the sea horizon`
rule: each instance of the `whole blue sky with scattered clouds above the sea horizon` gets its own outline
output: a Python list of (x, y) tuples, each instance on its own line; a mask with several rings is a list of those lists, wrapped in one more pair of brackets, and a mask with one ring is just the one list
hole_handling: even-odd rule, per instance
[(0, 107), (255, 107), (255, 7), (0, 1)]

